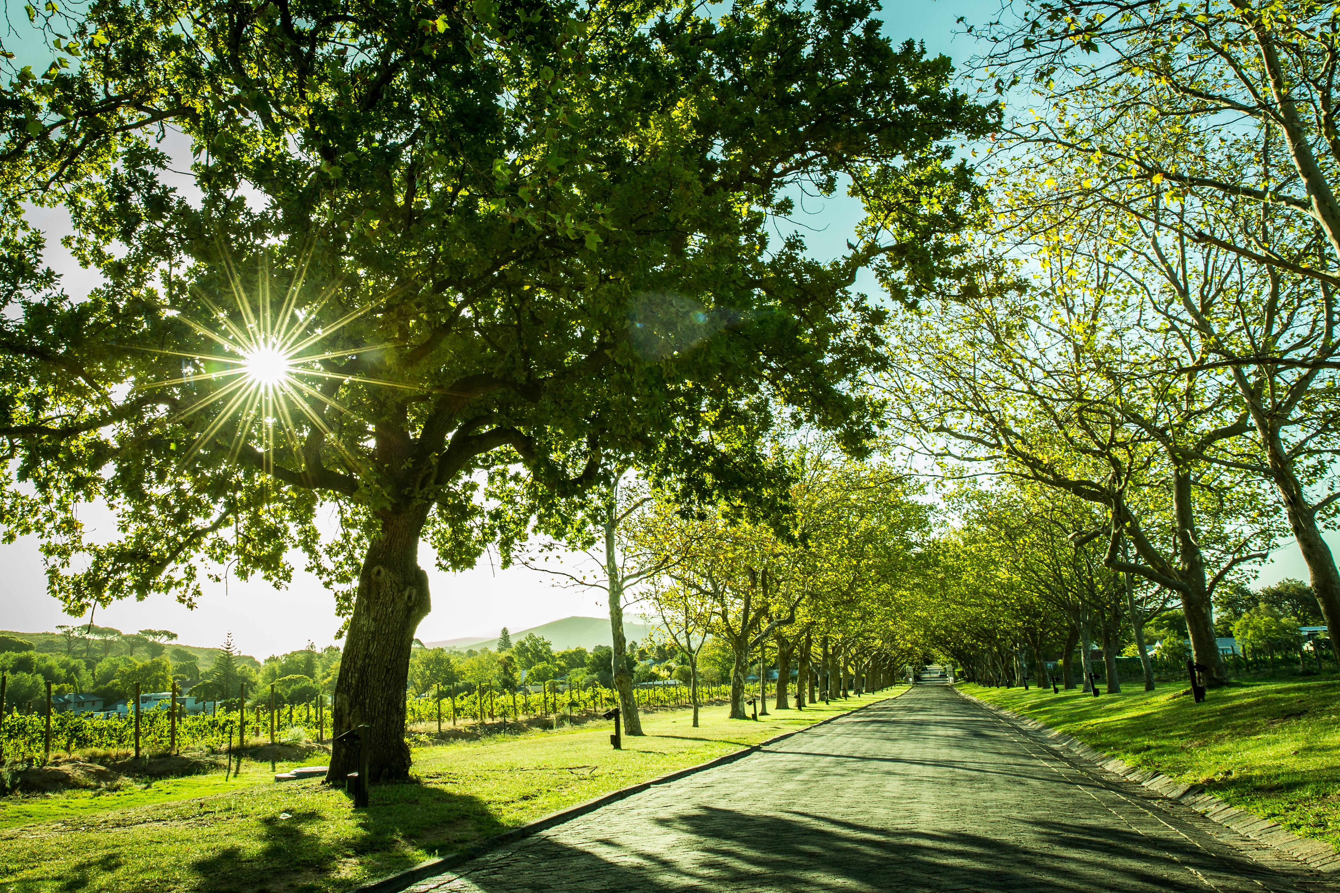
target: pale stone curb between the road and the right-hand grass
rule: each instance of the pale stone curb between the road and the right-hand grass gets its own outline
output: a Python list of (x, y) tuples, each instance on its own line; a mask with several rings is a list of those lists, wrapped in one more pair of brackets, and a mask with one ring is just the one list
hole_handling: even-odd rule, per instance
[(1250, 837), (1252, 839), (1260, 841), (1266, 846), (1288, 853), (1293, 858), (1319, 872), (1328, 874), (1340, 872), (1340, 853), (1336, 853), (1335, 847), (1325, 841), (1313, 839), (1311, 837), (1298, 837), (1278, 822), (1272, 822), (1270, 819), (1253, 815), (1252, 813), (1237, 809), (1235, 806), (1229, 806), (1214, 794), (1206, 794), (1205, 789), (1199, 785), (1186, 785), (1171, 779), (1162, 773), (1155, 773), (1154, 770), (1128, 766), (1115, 756), (1096, 751), (1084, 742), (1072, 738), (1065, 732), (1059, 732), (1051, 726), (1040, 723), (1036, 719), (1021, 716), (1013, 710), (1006, 710), (1005, 707), (1000, 707), (988, 700), (982, 700), (981, 698), (976, 698), (974, 695), (969, 695), (957, 685), (954, 687), (954, 691), (957, 691), (961, 696), (977, 702), (982, 707), (1008, 718), (1014, 724), (1022, 727), (1025, 732), (1047, 739), (1047, 743), (1056, 750), (1095, 763), (1096, 766), (1106, 768), (1114, 775), (1119, 775), (1130, 782), (1143, 785), (1170, 801), (1186, 803), (1206, 818), (1230, 827), (1244, 837)]

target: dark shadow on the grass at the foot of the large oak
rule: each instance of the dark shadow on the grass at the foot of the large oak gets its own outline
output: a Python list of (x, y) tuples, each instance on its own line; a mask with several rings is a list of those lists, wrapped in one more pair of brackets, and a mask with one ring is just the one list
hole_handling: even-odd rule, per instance
[(320, 811), (293, 811), (260, 819), (260, 851), (240, 845), (217, 849), (192, 862), (210, 893), (264, 893), (271, 889), (318, 889), (356, 858), (374, 877), (418, 864), (422, 847), (452, 853), (504, 830), (477, 797), (407, 782), (371, 790), (367, 809), (348, 806), (352, 827), (331, 825)]

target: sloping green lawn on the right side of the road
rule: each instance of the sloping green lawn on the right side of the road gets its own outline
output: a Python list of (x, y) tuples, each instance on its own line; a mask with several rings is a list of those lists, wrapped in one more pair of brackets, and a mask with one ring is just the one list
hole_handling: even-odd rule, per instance
[(962, 685), (1131, 766), (1203, 785), (1238, 809), (1340, 847), (1340, 680), (1242, 680), (1210, 689), (1202, 704), (1185, 684), (1140, 688), (1093, 698)]

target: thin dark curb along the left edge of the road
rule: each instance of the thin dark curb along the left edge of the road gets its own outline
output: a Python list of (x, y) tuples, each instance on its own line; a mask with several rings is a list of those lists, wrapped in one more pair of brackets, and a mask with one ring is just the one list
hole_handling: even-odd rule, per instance
[(636, 785), (630, 785), (627, 787), (620, 787), (619, 790), (610, 791), (608, 794), (602, 794), (600, 797), (588, 799), (584, 803), (578, 803), (576, 806), (568, 806), (567, 809), (560, 809), (556, 813), (541, 815), (533, 822), (527, 822), (525, 825), (503, 831), (501, 834), (494, 834), (493, 837), (481, 841), (469, 849), (461, 850), (460, 853), (452, 853), (450, 856), (442, 856), (440, 858), (427, 860), (426, 862), (419, 862), (414, 868), (406, 869), (405, 872), (383, 877), (378, 881), (373, 881), (362, 886), (355, 886), (348, 893), (399, 893), (401, 890), (413, 886), (419, 881), (425, 881), (437, 874), (446, 874), (448, 872), (460, 868), (461, 865), (465, 865), (470, 860), (484, 856), (490, 850), (496, 850), (500, 846), (507, 846), (508, 843), (512, 843), (521, 838), (531, 837), (532, 834), (539, 834), (540, 831), (548, 830), (555, 825), (561, 825), (563, 822), (571, 821), (580, 815), (586, 815), (587, 813), (592, 813), (600, 809), (602, 806), (608, 806), (610, 803), (622, 801), (626, 797), (641, 794), (642, 791), (655, 785), (666, 785), (675, 779), (683, 778), (685, 775), (694, 775), (697, 773), (713, 768), (716, 766), (733, 763), (741, 756), (756, 754), (764, 747), (768, 747), (769, 744), (776, 744), (777, 742), (791, 738), (792, 735), (808, 732), (811, 728), (819, 728), (820, 726), (825, 726), (833, 722), (835, 719), (842, 719), (843, 716), (851, 716), (852, 714), (866, 710), (867, 707), (874, 707), (875, 704), (882, 704), (886, 700), (892, 700), (894, 698), (904, 695), (910, 689), (911, 687), (904, 688), (896, 695), (890, 695), (888, 698), (882, 698), (880, 700), (874, 700), (868, 704), (862, 704), (860, 707), (855, 707), (852, 710), (847, 710), (840, 714), (833, 714), (828, 719), (820, 719), (817, 723), (811, 723), (809, 726), (804, 726), (801, 728), (793, 728), (789, 732), (781, 732), (780, 735), (773, 735), (768, 740), (758, 742), (757, 744), (748, 744), (746, 747), (742, 747), (737, 751), (722, 754), (721, 756), (713, 756), (705, 763), (687, 766), (685, 768), (677, 768), (673, 773), (658, 775), (657, 778), (653, 778), (650, 781), (639, 782)]

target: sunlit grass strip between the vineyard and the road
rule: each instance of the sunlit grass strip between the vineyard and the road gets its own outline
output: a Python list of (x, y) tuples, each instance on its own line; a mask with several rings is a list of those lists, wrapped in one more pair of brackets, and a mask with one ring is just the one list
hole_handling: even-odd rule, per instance
[(624, 738), (622, 751), (607, 722), (423, 747), (414, 783), (374, 787), (366, 810), (318, 781), (276, 785), (268, 763), (229, 782), (218, 773), (11, 797), (0, 801), (0, 890), (342, 890), (900, 691), (757, 723), (708, 707), (699, 728), (689, 711), (650, 714), (647, 735)]

